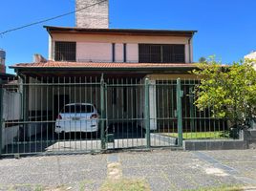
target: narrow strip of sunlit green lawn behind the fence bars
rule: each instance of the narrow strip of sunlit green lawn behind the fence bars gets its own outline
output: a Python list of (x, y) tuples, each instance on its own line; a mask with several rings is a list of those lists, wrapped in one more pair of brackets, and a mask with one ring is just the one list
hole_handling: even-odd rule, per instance
[[(224, 131), (215, 132), (186, 132), (183, 133), (183, 139), (199, 139), (199, 138), (228, 138), (228, 133)], [(163, 133), (161, 135), (178, 138), (178, 133)]]

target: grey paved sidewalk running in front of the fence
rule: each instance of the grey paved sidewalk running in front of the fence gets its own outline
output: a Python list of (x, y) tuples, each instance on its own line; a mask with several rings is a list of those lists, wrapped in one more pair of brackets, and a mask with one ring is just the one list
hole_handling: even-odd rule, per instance
[(116, 173), (111, 164), (118, 179), (144, 180), (156, 191), (256, 186), (256, 150), (155, 150), (1, 159), (0, 190), (99, 190)]

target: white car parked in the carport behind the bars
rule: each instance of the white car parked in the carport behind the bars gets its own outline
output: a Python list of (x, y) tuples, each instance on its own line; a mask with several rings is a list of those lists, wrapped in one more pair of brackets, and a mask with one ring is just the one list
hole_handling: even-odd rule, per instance
[(70, 103), (60, 111), (55, 123), (55, 133), (97, 132), (98, 114), (90, 103)]

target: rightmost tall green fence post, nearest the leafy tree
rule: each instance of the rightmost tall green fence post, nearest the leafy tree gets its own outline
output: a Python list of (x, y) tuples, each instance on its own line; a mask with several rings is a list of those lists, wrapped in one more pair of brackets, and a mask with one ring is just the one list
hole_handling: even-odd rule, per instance
[(182, 105), (181, 97), (183, 96), (183, 91), (181, 91), (181, 78), (177, 79), (177, 115), (178, 115), (178, 146), (182, 146)]

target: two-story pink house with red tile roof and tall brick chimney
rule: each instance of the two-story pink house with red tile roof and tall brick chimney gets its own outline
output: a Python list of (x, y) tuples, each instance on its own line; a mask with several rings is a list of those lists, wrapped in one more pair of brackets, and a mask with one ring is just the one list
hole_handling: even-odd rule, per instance
[(166, 92), (155, 85), (178, 77), (193, 78), (188, 71), (195, 68), (196, 31), (109, 29), (108, 1), (80, 11), (94, 2), (76, 0), (76, 27), (45, 26), (49, 32), (48, 60), (11, 66), (24, 83), (33, 84), (28, 89), (24, 86), (27, 117), (54, 120), (70, 102), (90, 102), (100, 108), (98, 83), (103, 77), (109, 84), (109, 121), (142, 118), (144, 100), (139, 84), (149, 78), (150, 126), (156, 130), (156, 118), (162, 113), (158, 110), (172, 107), (173, 115), (175, 109), (168, 99), (175, 100), (176, 93), (175, 88)]

